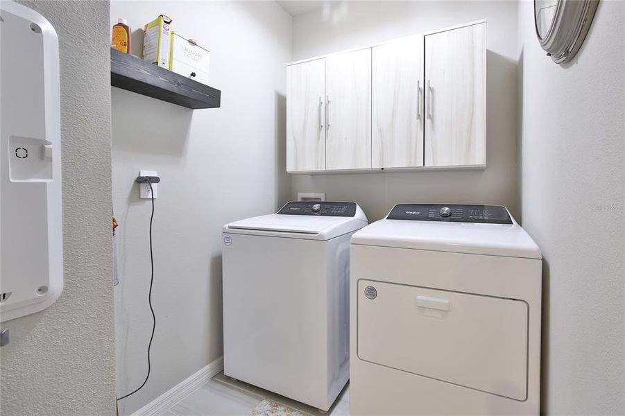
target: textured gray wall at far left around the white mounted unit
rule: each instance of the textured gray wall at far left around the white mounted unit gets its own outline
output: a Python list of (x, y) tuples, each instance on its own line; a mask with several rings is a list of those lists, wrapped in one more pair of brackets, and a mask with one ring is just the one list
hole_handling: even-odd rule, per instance
[(20, 1), (60, 43), (65, 288), (49, 309), (9, 322), (3, 415), (113, 415), (108, 1)]

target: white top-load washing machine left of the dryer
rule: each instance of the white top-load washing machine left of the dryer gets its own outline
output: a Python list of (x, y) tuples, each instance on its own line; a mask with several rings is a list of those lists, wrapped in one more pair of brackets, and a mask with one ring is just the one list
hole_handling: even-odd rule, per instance
[(355, 202), (289, 202), (223, 227), (224, 373), (328, 410), (349, 379)]

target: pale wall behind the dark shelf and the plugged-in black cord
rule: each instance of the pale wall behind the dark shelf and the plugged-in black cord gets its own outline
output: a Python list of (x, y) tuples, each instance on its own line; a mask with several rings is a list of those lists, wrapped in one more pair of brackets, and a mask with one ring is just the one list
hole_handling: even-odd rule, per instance
[[(149, 200), (139, 169), (158, 171), (153, 304), (157, 329), (146, 387), (120, 402), (128, 415), (223, 354), (221, 227), (268, 214), (289, 198), (284, 65), (291, 16), (271, 2), (112, 2), (111, 24), (136, 29), (164, 13), (211, 51), (221, 108), (184, 107), (112, 89), (113, 202), (121, 227), (116, 288), (118, 395), (146, 372)], [(140, 33), (139, 33), (140, 35)], [(135, 42), (135, 51), (141, 44)]]

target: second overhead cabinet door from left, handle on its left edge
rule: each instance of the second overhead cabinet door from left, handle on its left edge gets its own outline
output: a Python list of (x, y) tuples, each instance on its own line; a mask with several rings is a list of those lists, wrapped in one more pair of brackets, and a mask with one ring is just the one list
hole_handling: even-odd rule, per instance
[(327, 58), (325, 167), (371, 167), (371, 49)]

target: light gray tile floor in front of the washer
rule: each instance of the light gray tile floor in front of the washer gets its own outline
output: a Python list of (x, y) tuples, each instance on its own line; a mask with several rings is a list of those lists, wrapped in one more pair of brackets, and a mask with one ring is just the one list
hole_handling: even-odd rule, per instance
[[(224, 376), (223, 372), (185, 397), (180, 403), (169, 409), (164, 416), (248, 416), (264, 399), (277, 401), (307, 415), (323, 416), (316, 408), (276, 395), (262, 388), (232, 380)], [(348, 384), (326, 415), (349, 416), (349, 400)]]

